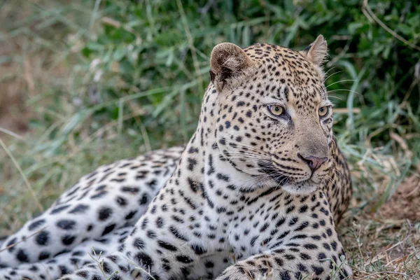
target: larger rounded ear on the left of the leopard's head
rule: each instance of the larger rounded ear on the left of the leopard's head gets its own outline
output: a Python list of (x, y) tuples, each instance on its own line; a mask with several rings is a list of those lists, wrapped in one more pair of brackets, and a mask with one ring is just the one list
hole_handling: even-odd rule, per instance
[(211, 51), (210, 77), (218, 92), (233, 80), (244, 76), (253, 61), (232, 43), (220, 43)]

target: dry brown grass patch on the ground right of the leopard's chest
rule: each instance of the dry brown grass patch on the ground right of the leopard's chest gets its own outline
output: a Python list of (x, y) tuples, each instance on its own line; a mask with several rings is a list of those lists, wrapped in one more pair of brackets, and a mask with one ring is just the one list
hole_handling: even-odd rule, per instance
[(355, 279), (420, 279), (419, 187), (420, 177), (410, 176), (377, 211), (352, 201), (338, 229)]

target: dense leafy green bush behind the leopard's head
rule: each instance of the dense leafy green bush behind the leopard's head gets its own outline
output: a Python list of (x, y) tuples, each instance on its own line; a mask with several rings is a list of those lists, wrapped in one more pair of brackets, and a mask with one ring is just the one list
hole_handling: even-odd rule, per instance
[(97, 106), (87, 101), (92, 87), (101, 102), (118, 100), (102, 103), (95, 118), (139, 114), (153, 148), (160, 139), (184, 143), (195, 129), (214, 45), (302, 49), (323, 34), (331, 57), (326, 83), (345, 153), (366, 162), (365, 175), (388, 175), (389, 155), (397, 162), (382, 202), (418, 162), (420, 8), (412, 2), (106, 1), (103, 8), (102, 32), (82, 50), (87, 62), (97, 62), (83, 65), (90, 69), (90, 85), (80, 89), (83, 106)]

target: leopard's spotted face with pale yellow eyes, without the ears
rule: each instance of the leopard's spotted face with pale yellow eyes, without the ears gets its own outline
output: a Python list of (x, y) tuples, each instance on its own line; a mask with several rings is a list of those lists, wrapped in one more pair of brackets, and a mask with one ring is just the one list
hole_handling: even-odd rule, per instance
[(219, 87), (221, 157), (265, 186), (311, 193), (328, 180), (332, 164), (323, 73), (305, 52), (258, 44), (244, 54), (246, 72)]

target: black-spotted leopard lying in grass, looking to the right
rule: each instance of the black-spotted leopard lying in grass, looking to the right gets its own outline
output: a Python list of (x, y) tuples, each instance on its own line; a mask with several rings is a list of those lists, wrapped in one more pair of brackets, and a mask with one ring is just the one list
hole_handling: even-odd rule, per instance
[(352, 279), (327, 55), (216, 45), (188, 144), (84, 176), (3, 240), (0, 279)]

